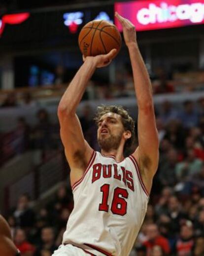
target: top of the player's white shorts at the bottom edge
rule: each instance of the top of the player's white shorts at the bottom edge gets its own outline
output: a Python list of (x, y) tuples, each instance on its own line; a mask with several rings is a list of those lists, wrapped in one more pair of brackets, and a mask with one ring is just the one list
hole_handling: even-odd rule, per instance
[(61, 245), (52, 256), (90, 256), (91, 253), (86, 253), (84, 250), (73, 245)]

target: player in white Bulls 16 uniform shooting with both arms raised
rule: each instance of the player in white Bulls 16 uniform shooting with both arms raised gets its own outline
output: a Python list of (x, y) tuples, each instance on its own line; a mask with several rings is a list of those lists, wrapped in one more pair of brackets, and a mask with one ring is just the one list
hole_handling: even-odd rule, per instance
[(84, 58), (58, 108), (61, 138), (70, 166), (74, 209), (63, 244), (53, 256), (128, 256), (143, 222), (158, 166), (158, 134), (150, 79), (136, 42), (134, 25), (116, 13), (132, 63), (138, 105), (138, 147), (124, 158), (134, 140), (134, 122), (117, 106), (99, 107), (96, 117), (101, 153), (84, 139), (76, 108), (106, 55)]

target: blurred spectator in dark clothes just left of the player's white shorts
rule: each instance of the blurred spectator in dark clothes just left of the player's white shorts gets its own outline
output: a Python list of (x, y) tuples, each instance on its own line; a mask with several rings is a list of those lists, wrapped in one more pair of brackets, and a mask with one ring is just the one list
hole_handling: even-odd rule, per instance
[(44, 250), (48, 251), (51, 255), (57, 250), (54, 229), (49, 226), (44, 227), (41, 230), (41, 244), (37, 248), (35, 256), (41, 256), (41, 253), (44, 253)]

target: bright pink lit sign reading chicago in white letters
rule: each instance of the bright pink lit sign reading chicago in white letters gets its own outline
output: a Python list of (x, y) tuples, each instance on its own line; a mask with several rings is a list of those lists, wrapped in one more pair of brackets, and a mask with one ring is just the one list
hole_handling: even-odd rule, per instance
[[(128, 18), (137, 31), (204, 24), (204, 0), (116, 2), (114, 9)], [(122, 31), (117, 19), (115, 24)]]

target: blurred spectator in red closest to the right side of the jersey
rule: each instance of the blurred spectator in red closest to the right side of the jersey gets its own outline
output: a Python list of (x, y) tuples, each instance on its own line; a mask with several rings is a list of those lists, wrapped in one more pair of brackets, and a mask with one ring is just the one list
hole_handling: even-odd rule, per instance
[(147, 226), (147, 241), (143, 245), (147, 249), (147, 255), (151, 256), (152, 248), (156, 245), (160, 246), (164, 250), (165, 254), (170, 253), (170, 245), (168, 240), (161, 236), (156, 224), (149, 224)]

